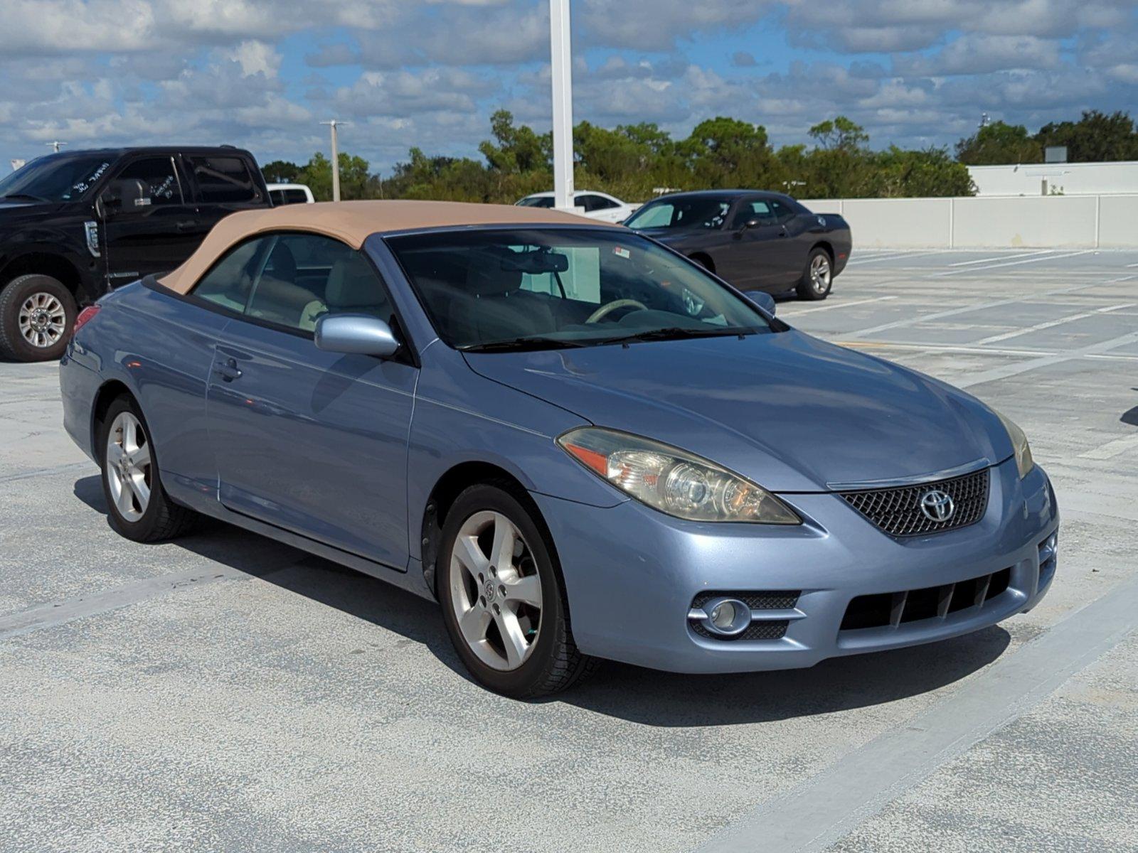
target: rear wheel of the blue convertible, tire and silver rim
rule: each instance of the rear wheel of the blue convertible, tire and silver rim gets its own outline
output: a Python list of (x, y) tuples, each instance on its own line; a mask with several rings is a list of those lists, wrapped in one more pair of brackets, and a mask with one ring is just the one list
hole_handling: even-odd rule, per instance
[(110, 527), (137, 543), (174, 539), (192, 528), (198, 514), (173, 503), (162, 488), (150, 431), (134, 400), (114, 400), (99, 432)]

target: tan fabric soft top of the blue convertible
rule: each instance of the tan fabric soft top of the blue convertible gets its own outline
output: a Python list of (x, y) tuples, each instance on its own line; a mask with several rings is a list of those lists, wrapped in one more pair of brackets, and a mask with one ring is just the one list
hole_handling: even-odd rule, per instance
[[(462, 225), (608, 225), (577, 214), (542, 207), (472, 205), (462, 201), (325, 201), (242, 210), (214, 225), (201, 246), (160, 283), (179, 293), (190, 288), (231, 246), (270, 231), (311, 231), (353, 249), (376, 233)], [(619, 227), (619, 226), (613, 226)]]

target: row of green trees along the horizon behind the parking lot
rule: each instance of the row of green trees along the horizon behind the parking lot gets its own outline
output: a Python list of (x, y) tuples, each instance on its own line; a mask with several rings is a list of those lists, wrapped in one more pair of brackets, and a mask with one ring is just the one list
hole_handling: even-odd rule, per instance
[[(948, 148), (869, 148), (865, 129), (846, 116), (814, 125), (809, 144), (775, 148), (762, 125), (717, 116), (675, 139), (654, 123), (574, 127), (574, 182), (629, 201), (661, 192), (756, 188), (798, 198), (902, 198), (971, 196), (967, 166), (1039, 163), (1044, 148), (1067, 146), (1071, 162), (1138, 159), (1138, 132), (1124, 113), (1095, 110), (1078, 122), (1045, 125), (1031, 135), (1022, 125), (993, 122)], [(516, 124), (509, 110), (490, 116), (490, 139), (480, 159), (427, 155), (412, 148), (390, 175), (370, 172), (365, 159), (339, 155), (344, 199), (412, 198), (512, 204), (553, 187), (553, 140)], [(320, 200), (331, 198), (331, 163), (322, 154), (304, 165), (274, 160), (263, 168), (270, 182), (298, 182)]]

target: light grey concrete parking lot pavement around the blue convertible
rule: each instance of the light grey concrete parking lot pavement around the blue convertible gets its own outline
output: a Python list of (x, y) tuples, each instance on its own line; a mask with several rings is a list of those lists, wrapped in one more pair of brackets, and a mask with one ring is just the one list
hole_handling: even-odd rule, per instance
[(778, 314), (1024, 428), (1064, 519), (1039, 607), (511, 702), (378, 580), (223, 525), (117, 538), (53, 366), (0, 364), (0, 847), (1138, 847), (1138, 252), (858, 252)]

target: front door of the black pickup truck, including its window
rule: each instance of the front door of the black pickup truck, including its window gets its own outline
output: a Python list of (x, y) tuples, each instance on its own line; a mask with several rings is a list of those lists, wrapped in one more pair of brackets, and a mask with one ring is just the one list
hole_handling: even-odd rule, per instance
[(125, 162), (99, 193), (108, 284), (179, 266), (198, 247), (195, 206), (173, 157)]

